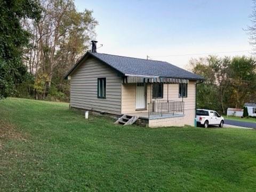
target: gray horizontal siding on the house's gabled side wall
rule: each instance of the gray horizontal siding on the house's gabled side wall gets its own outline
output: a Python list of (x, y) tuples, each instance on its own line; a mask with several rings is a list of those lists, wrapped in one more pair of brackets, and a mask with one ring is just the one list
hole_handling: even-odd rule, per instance
[[(71, 107), (121, 114), (122, 78), (114, 69), (97, 59), (88, 58), (70, 76)], [(97, 97), (99, 77), (106, 77), (106, 99)]]

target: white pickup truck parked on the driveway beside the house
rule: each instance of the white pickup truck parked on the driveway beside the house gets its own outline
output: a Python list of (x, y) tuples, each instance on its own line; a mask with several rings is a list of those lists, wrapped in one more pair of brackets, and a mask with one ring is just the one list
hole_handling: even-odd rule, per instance
[(213, 110), (196, 109), (196, 123), (204, 125), (205, 128), (209, 125), (219, 125), (219, 127), (223, 127), (224, 118)]

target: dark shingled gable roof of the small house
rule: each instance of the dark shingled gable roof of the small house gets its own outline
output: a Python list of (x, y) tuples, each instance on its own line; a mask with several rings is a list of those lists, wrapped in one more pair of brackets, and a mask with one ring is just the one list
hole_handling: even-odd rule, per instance
[[(92, 55), (93, 57), (107, 63), (107, 65), (116, 69), (123, 75), (158, 76), (193, 80), (204, 79), (201, 76), (193, 74), (165, 61), (146, 60), (93, 52), (87, 52), (84, 57), (88, 53), (89, 55)], [(77, 64), (69, 71), (66, 78), (76, 68), (80, 61), (78, 61)]]

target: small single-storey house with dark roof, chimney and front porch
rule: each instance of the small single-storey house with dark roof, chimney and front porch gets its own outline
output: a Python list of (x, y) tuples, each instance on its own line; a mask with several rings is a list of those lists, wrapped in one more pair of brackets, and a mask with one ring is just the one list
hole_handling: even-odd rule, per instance
[(70, 107), (138, 117), (150, 127), (194, 125), (203, 78), (164, 61), (92, 51), (69, 70)]

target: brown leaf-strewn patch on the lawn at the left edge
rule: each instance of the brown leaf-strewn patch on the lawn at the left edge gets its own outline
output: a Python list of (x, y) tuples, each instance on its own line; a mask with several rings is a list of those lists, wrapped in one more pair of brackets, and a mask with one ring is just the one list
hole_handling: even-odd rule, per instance
[(0, 119), (0, 149), (3, 147), (3, 143), (8, 140), (26, 140), (25, 137), (16, 130), (16, 127)]

